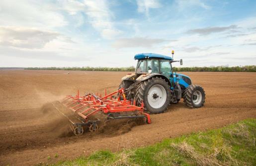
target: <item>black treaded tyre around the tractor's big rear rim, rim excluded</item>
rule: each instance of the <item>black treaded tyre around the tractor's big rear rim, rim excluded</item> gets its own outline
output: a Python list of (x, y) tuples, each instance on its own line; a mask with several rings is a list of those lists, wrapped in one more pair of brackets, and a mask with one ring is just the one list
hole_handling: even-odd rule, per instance
[[(167, 97), (166, 97), (166, 101), (162, 107), (153, 108), (148, 101), (148, 92), (152, 86), (157, 85), (157, 84), (162, 85), (164, 87), (164, 89), (166, 90), (166, 93), (167, 93)], [(164, 79), (159, 78), (159, 77), (153, 77), (151, 79), (148, 79), (148, 80), (140, 83), (138, 85), (138, 87), (136, 88), (135, 100), (136, 100), (136, 105), (138, 105), (138, 106), (141, 105), (141, 100), (143, 100), (144, 109), (145, 109), (145, 111), (147, 111), (149, 113), (153, 113), (153, 114), (162, 113), (168, 108), (168, 106), (171, 102), (170, 85)]]

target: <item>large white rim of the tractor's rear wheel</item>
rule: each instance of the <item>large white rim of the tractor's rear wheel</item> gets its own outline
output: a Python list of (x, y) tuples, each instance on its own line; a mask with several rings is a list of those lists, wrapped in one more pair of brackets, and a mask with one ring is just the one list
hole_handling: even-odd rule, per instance
[(162, 85), (156, 84), (149, 89), (148, 102), (151, 107), (161, 108), (165, 104), (166, 98), (166, 89)]

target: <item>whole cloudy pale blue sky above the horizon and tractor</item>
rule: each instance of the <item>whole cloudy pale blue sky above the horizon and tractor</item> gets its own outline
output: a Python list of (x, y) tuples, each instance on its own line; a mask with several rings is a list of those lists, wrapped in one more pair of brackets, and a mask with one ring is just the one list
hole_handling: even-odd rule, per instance
[(256, 65), (256, 0), (0, 0), (0, 67), (129, 67), (171, 50), (183, 67)]

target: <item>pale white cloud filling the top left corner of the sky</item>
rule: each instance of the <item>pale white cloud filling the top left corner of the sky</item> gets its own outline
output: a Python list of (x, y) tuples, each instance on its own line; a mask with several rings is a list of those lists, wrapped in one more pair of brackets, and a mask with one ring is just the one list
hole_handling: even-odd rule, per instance
[(52, 3), (26, 0), (0, 0), (0, 25), (48, 29), (68, 24)]

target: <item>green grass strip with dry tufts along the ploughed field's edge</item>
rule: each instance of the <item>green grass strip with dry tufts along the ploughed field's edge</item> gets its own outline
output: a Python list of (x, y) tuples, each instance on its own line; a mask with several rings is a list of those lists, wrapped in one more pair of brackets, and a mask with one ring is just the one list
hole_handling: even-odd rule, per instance
[(97, 151), (54, 166), (256, 166), (255, 138), (256, 119), (248, 119), (144, 148)]

